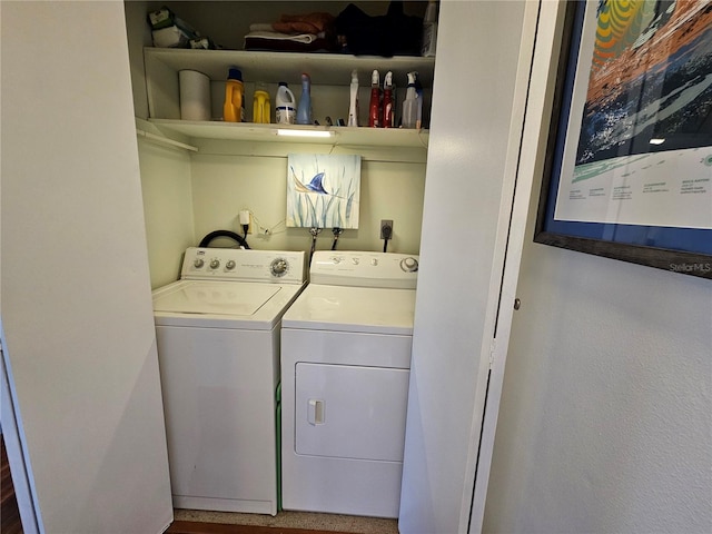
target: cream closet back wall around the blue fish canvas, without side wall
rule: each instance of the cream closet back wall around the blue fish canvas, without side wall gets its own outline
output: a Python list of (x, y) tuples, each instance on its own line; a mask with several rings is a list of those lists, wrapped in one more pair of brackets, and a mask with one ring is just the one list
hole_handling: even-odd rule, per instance
[[(249, 156), (235, 151), (235, 144), (200, 144), (191, 157), (192, 209), (195, 236), (199, 241), (212, 230), (227, 229), (241, 234), (238, 211), (249, 209), (260, 226), (271, 234), (248, 235), (253, 248), (273, 250), (309, 250), (308, 228), (286, 228), (287, 157), (291, 151), (330, 150), (330, 147), (303, 148), (304, 145), (273, 146), (269, 155)], [(308, 145), (307, 145), (308, 147)], [(353, 149), (362, 155), (360, 205), (358, 229), (344, 230), (339, 250), (382, 250), (382, 219), (394, 221), (388, 250), (417, 254), (421, 245), (421, 217), (425, 187), (425, 164), (386, 162), (369, 157), (368, 148)], [(276, 154), (275, 154), (276, 152)], [(336, 149), (333, 154), (342, 152)], [(393, 150), (394, 154), (397, 150)], [(418, 159), (424, 158), (424, 154)], [(257, 230), (257, 226), (255, 226)], [(317, 249), (328, 249), (334, 235), (322, 231)]]

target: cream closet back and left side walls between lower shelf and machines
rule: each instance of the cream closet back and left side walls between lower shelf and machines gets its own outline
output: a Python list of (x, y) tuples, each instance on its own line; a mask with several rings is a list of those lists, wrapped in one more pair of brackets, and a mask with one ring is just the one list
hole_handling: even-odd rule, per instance
[[(264, 149), (267, 155), (246, 156), (240, 154), (244, 150), (236, 150), (235, 142), (198, 141), (200, 152), (189, 155), (139, 140), (152, 288), (175, 281), (180, 273), (182, 253), (187, 247), (197, 246), (207, 234), (231, 230), (241, 235), (238, 212), (243, 209), (248, 209), (255, 217), (254, 234), (247, 236), (251, 248), (309, 250), (309, 230), (285, 226), (286, 154), (305, 150), (304, 146), (273, 146)], [(313, 147), (312, 150), (323, 152), (325, 148)], [(413, 161), (390, 162), (372, 159), (369, 152), (373, 150), (368, 148), (352, 150), (352, 154), (364, 155), (359, 226), (344, 230), (338, 249), (382, 250), (379, 222), (390, 219), (394, 233), (388, 251), (418, 254), (425, 155), (419, 151)], [(269, 235), (258, 233), (259, 228), (269, 229)], [(317, 249), (329, 249), (333, 239), (332, 230), (324, 229), (317, 238)], [(234, 246), (235, 243), (224, 240), (216, 245)]]

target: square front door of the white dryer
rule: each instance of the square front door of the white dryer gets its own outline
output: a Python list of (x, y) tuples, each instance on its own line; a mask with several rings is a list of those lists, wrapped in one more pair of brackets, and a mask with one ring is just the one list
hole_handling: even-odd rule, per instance
[(298, 363), (296, 453), (403, 462), (408, 369)]

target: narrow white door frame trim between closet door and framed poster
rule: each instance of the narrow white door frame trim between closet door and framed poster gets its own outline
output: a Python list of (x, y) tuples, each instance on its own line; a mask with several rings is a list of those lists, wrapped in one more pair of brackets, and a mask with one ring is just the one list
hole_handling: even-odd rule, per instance
[[(490, 383), (486, 387), (484, 414), (475, 412), (471, 433), (467, 468), (468, 472), (471, 469), (474, 472), (474, 476), (466, 479), (472, 479), (474, 487), (469, 491), (466, 488), (464, 498), (471, 496), (472, 505), (467, 503), (468, 505), (461, 507), (461, 514), (467, 514), (467, 523), (461, 517), (461, 532), (469, 534), (481, 532), (484, 520), (522, 248), (533, 192), (532, 185), (540, 159), (541, 140), (546, 139), (548, 128), (547, 116), (543, 111), (546, 109), (546, 102), (551, 101), (552, 71), (555, 76), (555, 70), (552, 70), (556, 68), (557, 60), (554, 37), (556, 29), (561, 27), (560, 18), (564, 11), (565, 2), (537, 1), (527, 2), (524, 13), (507, 150), (510, 156), (501, 197), (500, 231), (496, 244), (496, 254), (502, 256), (496, 257), (494, 263), (503, 265), (503, 273), (493, 271), (491, 284), (491, 295), (493, 286), (496, 286), (498, 291), (496, 300), (493, 299), (498, 304), (496, 322), (492, 328), (493, 333), (496, 328), (494, 334), (496, 343), (493, 343), (493, 339), (483, 340), (482, 362), (486, 360), (488, 364), (492, 357), (493, 363), (488, 373)], [(464, 525), (467, 525), (466, 530)]]

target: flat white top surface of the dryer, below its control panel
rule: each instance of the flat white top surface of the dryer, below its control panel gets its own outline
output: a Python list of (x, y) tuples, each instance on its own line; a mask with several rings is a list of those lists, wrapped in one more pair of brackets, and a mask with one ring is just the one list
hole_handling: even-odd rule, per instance
[(285, 313), (283, 328), (413, 334), (415, 290), (310, 284)]

